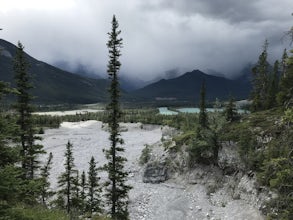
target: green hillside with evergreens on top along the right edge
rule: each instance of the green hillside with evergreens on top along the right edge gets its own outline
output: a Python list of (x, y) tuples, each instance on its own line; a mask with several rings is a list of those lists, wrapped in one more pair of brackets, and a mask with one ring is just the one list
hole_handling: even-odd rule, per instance
[[(288, 32), (293, 41), (293, 29)], [(240, 139), (242, 155), (258, 174), (259, 183), (278, 193), (264, 210), (271, 219), (293, 218), (293, 50), (284, 50), (272, 69), (267, 62), (267, 41), (253, 69), (252, 110), (254, 127), (263, 124), (263, 133), (251, 132)], [(262, 111), (266, 110), (266, 111)], [(257, 116), (257, 118), (256, 118)], [(250, 119), (251, 120), (251, 119)], [(262, 121), (263, 120), (263, 121)], [(269, 138), (260, 141), (259, 139)]]

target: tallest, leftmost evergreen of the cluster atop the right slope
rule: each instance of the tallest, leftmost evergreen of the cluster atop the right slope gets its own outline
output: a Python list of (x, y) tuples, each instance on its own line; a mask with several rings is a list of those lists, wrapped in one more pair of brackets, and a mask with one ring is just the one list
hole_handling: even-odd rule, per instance
[(265, 109), (265, 102), (267, 101), (268, 94), (268, 73), (269, 64), (267, 62), (268, 57), (268, 41), (265, 40), (263, 51), (259, 56), (256, 66), (253, 67), (253, 79), (252, 79), (252, 111), (258, 111)]

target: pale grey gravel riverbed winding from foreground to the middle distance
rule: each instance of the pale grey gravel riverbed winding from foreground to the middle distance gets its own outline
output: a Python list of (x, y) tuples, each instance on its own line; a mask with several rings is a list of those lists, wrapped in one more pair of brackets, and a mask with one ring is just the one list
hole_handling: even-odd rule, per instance
[[(143, 169), (138, 165), (145, 144), (162, 148), (161, 126), (123, 123), (122, 138), (125, 141), (126, 169), (130, 172), (130, 219), (132, 220), (261, 220), (257, 207), (247, 201), (232, 199), (225, 191), (210, 194), (204, 184), (189, 184), (184, 177), (177, 176), (160, 184), (143, 183)], [(88, 170), (88, 162), (94, 156), (98, 166), (106, 163), (102, 150), (109, 147), (109, 133), (105, 124), (98, 121), (64, 122), (58, 129), (47, 129), (41, 143), (45, 150), (53, 153), (51, 186), (57, 187), (57, 177), (63, 172), (64, 151), (68, 141), (73, 144), (75, 165), (80, 172)], [(41, 158), (46, 160), (46, 156)], [(100, 173), (103, 179), (106, 173)]]

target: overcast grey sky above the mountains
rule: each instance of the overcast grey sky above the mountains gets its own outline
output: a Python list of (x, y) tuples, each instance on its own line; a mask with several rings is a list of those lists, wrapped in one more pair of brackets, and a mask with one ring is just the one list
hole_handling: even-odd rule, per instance
[(106, 74), (113, 14), (122, 31), (121, 72), (150, 80), (167, 70), (235, 75), (255, 62), (265, 39), (270, 59), (289, 49), (293, 0), (0, 0), (0, 38), (33, 57)]

